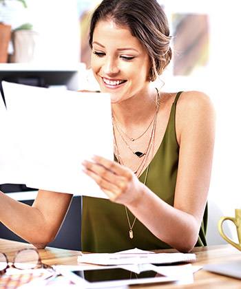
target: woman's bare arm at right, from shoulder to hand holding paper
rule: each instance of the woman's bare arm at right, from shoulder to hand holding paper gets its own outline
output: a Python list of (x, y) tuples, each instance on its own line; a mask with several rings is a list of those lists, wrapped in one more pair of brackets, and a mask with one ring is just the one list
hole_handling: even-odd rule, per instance
[(174, 207), (165, 203), (134, 173), (114, 162), (96, 157), (85, 162), (86, 173), (109, 195), (124, 204), (163, 242), (189, 252), (195, 246), (209, 189), (214, 144), (214, 111), (200, 92), (183, 93), (176, 111), (180, 143)]

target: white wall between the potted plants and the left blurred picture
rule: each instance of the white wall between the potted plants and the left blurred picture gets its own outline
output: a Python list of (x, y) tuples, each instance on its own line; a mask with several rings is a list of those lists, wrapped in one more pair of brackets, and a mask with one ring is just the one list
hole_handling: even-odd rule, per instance
[(29, 21), (39, 32), (35, 62), (67, 64), (79, 61), (76, 0), (27, 0)]

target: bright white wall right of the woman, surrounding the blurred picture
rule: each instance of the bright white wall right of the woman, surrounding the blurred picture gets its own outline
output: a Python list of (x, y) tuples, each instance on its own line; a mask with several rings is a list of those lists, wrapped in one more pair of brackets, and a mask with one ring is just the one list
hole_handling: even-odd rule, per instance
[[(169, 91), (195, 89), (207, 93), (216, 109), (216, 146), (209, 190), (209, 244), (222, 243), (217, 222), (221, 215), (234, 216), (241, 208), (241, 17), (239, 1), (164, 2), (167, 12), (207, 12), (210, 17), (209, 65), (192, 77), (173, 77), (165, 73)], [(231, 226), (235, 237), (235, 227)]]

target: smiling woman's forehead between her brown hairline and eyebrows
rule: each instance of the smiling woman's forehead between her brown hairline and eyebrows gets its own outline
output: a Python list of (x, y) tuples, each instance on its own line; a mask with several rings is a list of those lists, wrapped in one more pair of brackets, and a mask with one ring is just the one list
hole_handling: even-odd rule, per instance
[(93, 34), (94, 41), (105, 47), (133, 47), (138, 51), (144, 50), (143, 45), (127, 26), (118, 26), (112, 20), (98, 21)]

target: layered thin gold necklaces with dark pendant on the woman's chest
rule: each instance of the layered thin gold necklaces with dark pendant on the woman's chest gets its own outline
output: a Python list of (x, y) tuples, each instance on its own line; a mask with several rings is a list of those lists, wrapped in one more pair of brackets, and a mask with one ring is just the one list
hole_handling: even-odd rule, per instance
[[(116, 133), (118, 133), (118, 135), (121, 137), (121, 140), (123, 141), (125, 146), (129, 149), (129, 151), (131, 151), (134, 154), (134, 156), (137, 156), (138, 158), (140, 158), (140, 164), (138, 164), (138, 167), (136, 167), (136, 169), (133, 170), (137, 177), (140, 176), (143, 169), (147, 165), (147, 160), (148, 160), (151, 152), (152, 152), (151, 157), (153, 156), (154, 140), (155, 140), (155, 133), (156, 133), (156, 121), (157, 121), (158, 111), (159, 111), (159, 107), (160, 107), (160, 94), (158, 92), (158, 89), (156, 89), (156, 105), (155, 105), (155, 107), (156, 107), (156, 109), (155, 109), (154, 117), (151, 119), (151, 122), (149, 123), (147, 128), (142, 133), (140, 133), (140, 135), (136, 138), (129, 137), (127, 135), (127, 133), (125, 131), (123, 131), (123, 129), (121, 129), (121, 126), (118, 125), (118, 122), (117, 122), (116, 118), (114, 117), (114, 114), (112, 116), (113, 131), (114, 131), (114, 152), (116, 155), (116, 159), (117, 159), (119, 164), (125, 165), (125, 163), (123, 162), (123, 159), (121, 158), (121, 154), (119, 152), (118, 144), (116, 141)], [(147, 133), (147, 131), (149, 131), (149, 129), (151, 129), (151, 133), (150, 133), (149, 141), (147, 142), (147, 147), (145, 148), (145, 150), (143, 152), (141, 152), (141, 151), (135, 151), (134, 149), (132, 149), (132, 147), (130, 146), (129, 143), (134, 142), (135, 140), (138, 140), (138, 139), (142, 138), (143, 136), (145, 136), (145, 133)], [(143, 184), (146, 184), (146, 182), (147, 182), (148, 171), (149, 171), (149, 165), (147, 166), (147, 169), (145, 172), (145, 179), (144, 179)], [(134, 217), (134, 221), (131, 224), (131, 222), (129, 220), (129, 213), (128, 213), (127, 206), (125, 206), (125, 213), (126, 213), (127, 222), (129, 225), (129, 238), (133, 239), (134, 233), (133, 233), (132, 229), (133, 229), (134, 224), (136, 222), (136, 217)]]

